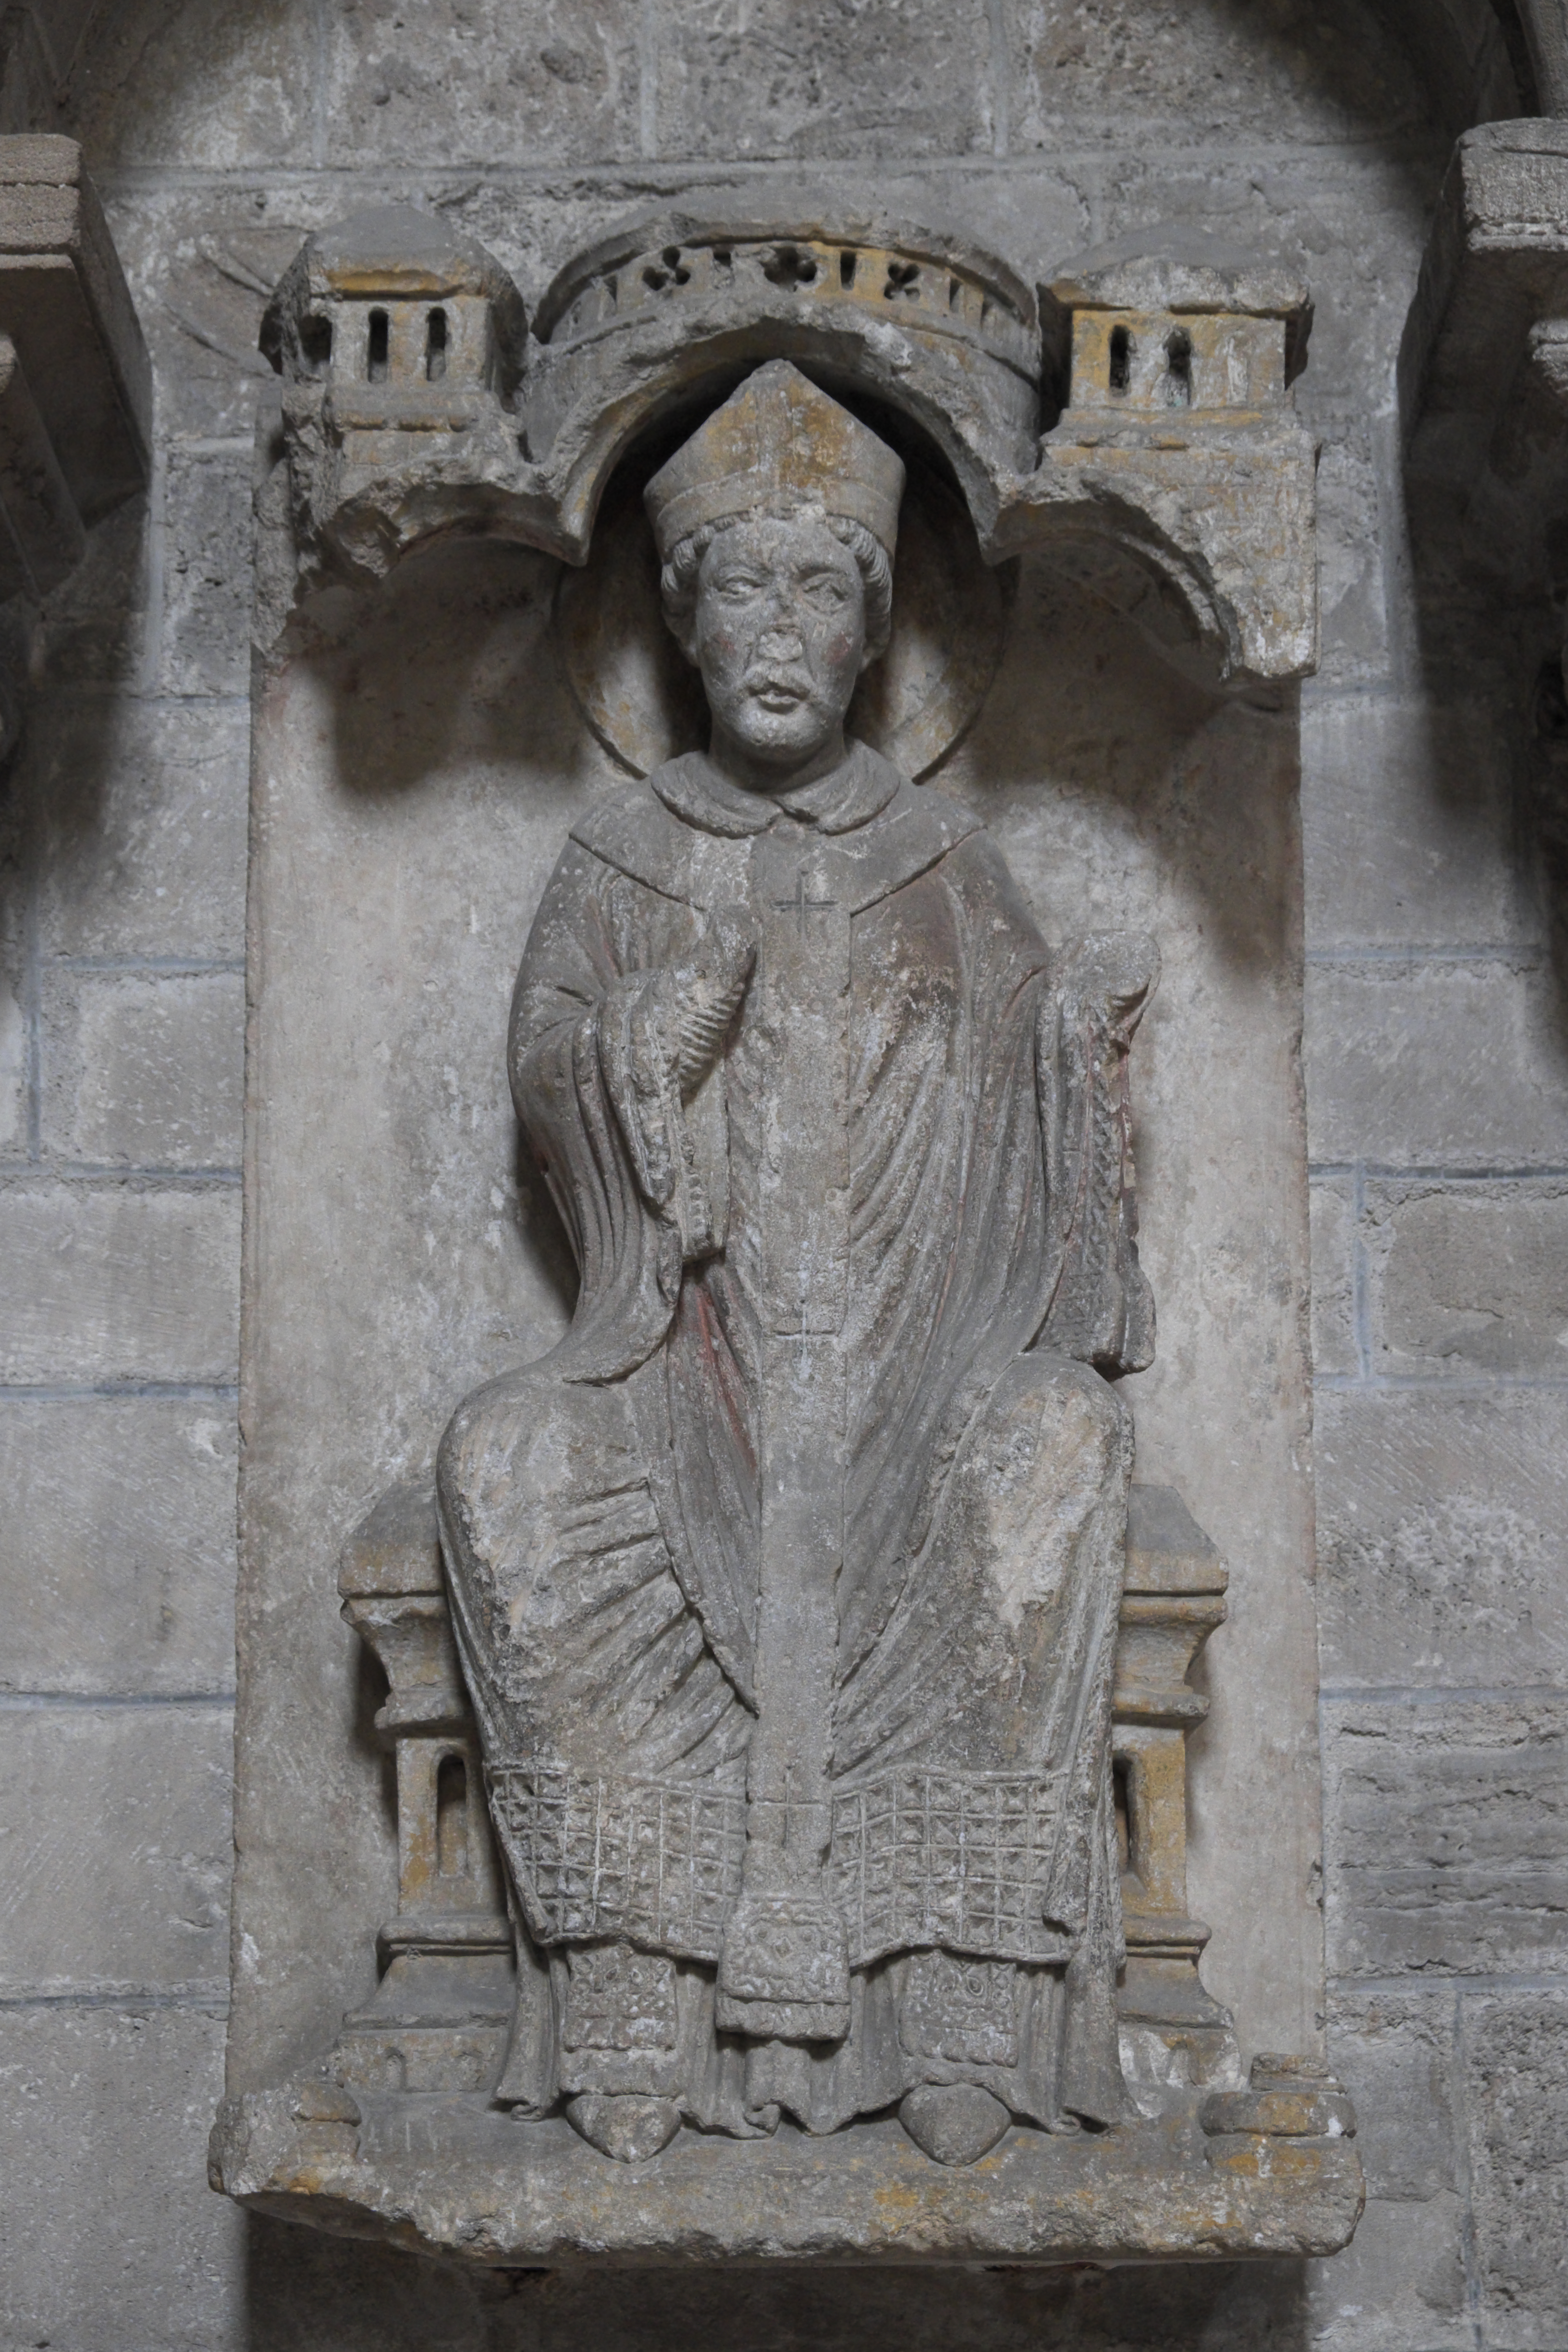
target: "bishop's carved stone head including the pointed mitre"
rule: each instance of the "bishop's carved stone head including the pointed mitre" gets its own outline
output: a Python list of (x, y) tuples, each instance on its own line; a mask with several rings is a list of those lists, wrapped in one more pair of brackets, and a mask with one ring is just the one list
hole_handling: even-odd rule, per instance
[(764, 769), (839, 739), (886, 649), (903, 463), (788, 360), (759, 367), (654, 475), (665, 619), (715, 734)]

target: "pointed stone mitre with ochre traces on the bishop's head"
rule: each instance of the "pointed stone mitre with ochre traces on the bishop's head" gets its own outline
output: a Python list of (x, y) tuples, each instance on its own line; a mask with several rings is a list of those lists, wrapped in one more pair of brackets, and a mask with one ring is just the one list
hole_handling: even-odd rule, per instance
[(661, 562), (717, 522), (813, 515), (898, 543), (903, 461), (788, 360), (748, 376), (644, 492)]

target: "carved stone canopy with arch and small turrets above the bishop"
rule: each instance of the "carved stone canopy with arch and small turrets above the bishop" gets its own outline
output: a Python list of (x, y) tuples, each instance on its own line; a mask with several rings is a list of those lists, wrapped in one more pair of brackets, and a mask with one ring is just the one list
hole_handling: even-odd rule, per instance
[(602, 240), (524, 334), (482, 247), (390, 209), (308, 240), (263, 350), (308, 572), (374, 581), (444, 532), (583, 564), (637, 435), (788, 358), (936, 445), (985, 562), (1051, 550), (1164, 654), (1286, 680), (1316, 659), (1307, 327), (1234, 254), (1110, 254), (1037, 301), (969, 238), (759, 205)]

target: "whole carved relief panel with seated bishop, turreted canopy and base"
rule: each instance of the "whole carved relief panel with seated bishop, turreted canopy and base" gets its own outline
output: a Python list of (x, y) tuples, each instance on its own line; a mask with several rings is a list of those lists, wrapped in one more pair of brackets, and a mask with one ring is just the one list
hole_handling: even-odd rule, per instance
[[(964, 233), (752, 195), (611, 230), (531, 313), (409, 209), (317, 230), (280, 282), (212, 2136), (244, 2206), (501, 2267), (1213, 2260), (1354, 2230), (1307, 1783), (1269, 1783), (1269, 1851), (1237, 1804), (1258, 1710), (1215, 1708), (1194, 1783), (1194, 1893), (1246, 2016), (1204, 1985), (1187, 1903), (1190, 1670), (1229, 1569), (1182, 1484), (1241, 1571), (1220, 1689), (1253, 1675), (1281, 1752), (1312, 1724), (1298, 985), (1269, 964), (1291, 779), (1215, 717), (1194, 837), (1159, 833), (1185, 771), (1138, 807), (1159, 877), (1114, 863), (1098, 786), (1081, 823), (1056, 776), (1051, 826), (1018, 835), (1037, 891), (1070, 903), (1107, 858), (1110, 903), (1171, 948), (1150, 1143), (1204, 1409), (1187, 1435), (1166, 1367), (1131, 1486), (1117, 1381), (1154, 1315), (1126, 1065), (1154, 948), (1046, 943), (971, 809), (912, 783), (1046, 579), (1084, 642), (1135, 637), (1182, 694), (1274, 708), (1312, 666), (1307, 325), (1300, 280), (1229, 249), (1133, 240), (1032, 289)], [(651, 435), (656, 548), (628, 503)], [(425, 548), (425, 590), (395, 586)], [(407, 635), (430, 579), (456, 654)], [(559, 661), (501, 731), (465, 635), (498, 614)], [(362, 699), (402, 666), (430, 706), (388, 795), (355, 746), (393, 739)], [(1009, 715), (978, 760), (997, 809), (1025, 731)], [(562, 851), (590, 739), (637, 781)], [(491, 1004), (517, 877), (557, 854), (517, 1129)], [(1185, 903), (1211, 866), (1262, 884), (1246, 969)], [(1194, 1108), (1218, 1054), (1229, 1096)], [(461, 1145), (433, 1143), (435, 1068)], [(578, 1298), (496, 1378), (550, 1317), (501, 1230), (517, 1138)], [(1237, 1169), (1281, 1207), (1232, 1235)], [(1232, 1423), (1246, 1470), (1215, 1458)]]

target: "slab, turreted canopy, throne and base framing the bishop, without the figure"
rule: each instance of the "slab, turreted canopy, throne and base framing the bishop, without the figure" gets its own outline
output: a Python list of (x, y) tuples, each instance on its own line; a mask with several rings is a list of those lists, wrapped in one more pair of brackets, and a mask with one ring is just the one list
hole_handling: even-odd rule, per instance
[[(1305, 287), (1229, 252), (1128, 247), (1030, 289), (959, 235), (799, 200), (632, 223), (527, 322), (489, 254), (411, 212), (313, 238), (280, 285), (228, 2194), (494, 2265), (1331, 2253), (1354, 2230), (1316, 1907), (1307, 327)], [(990, 828), (1046, 941), (1143, 931), (1164, 960), (1131, 1044), (1159, 1348), (1119, 1381), (1107, 1700), (1126, 2107), (1004, 2114), (973, 2161), (891, 2110), (611, 2161), (564, 2103), (496, 2098), (522, 1926), (433, 1463), (454, 1406), (571, 1319), (508, 1002), (571, 828), (703, 743), (642, 489), (771, 360), (907, 475), (849, 731)]]

